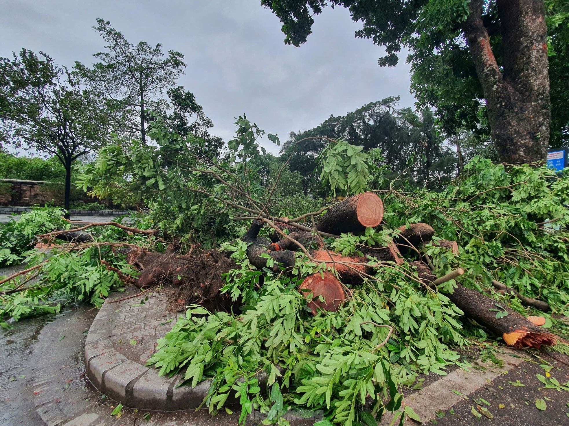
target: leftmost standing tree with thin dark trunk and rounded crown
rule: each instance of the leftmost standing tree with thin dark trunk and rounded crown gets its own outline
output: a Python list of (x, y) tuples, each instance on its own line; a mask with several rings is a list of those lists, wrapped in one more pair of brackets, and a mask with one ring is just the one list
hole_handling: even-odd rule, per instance
[(0, 137), (16, 147), (45, 152), (65, 167), (69, 217), (72, 162), (105, 144), (107, 115), (96, 94), (44, 53), (22, 49), (0, 58)]

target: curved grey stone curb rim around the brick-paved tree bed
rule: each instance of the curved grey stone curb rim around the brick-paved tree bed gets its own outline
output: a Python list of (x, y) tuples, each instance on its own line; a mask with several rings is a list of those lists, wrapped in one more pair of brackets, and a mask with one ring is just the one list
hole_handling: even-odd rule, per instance
[[(130, 293), (135, 294), (137, 291), (138, 289)], [(124, 296), (125, 294), (119, 294), (116, 299)], [(183, 382), (182, 375), (159, 377), (157, 369), (131, 360), (117, 350), (112, 340), (113, 328), (121, 327), (121, 319), (129, 314), (123, 314), (124, 317), (117, 315), (117, 311), (121, 310), (116, 309), (120, 302), (111, 304), (110, 299), (99, 310), (85, 340), (85, 371), (92, 385), (102, 394), (129, 408), (178, 411), (199, 407), (208, 393), (211, 381), (201, 382), (194, 388), (176, 387)], [(133, 303), (133, 300), (123, 302), (122, 308), (129, 303)], [(155, 309), (148, 305), (148, 308), (137, 308), (137, 312), (130, 316), (140, 316), (144, 311)]]

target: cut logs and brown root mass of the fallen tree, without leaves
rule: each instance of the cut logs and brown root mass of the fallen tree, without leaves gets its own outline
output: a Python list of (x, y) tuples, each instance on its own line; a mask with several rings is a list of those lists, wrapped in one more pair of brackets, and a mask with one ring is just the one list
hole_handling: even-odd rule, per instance
[[(281, 269), (283, 273), (291, 272), (296, 262), (295, 252), (302, 253), (306, 261), (324, 265), (325, 272), (308, 275), (299, 286), (314, 315), (319, 310), (337, 311), (348, 299), (350, 289), (361, 285), (366, 279), (374, 279), (376, 269), (403, 269), (409, 279), (426, 289), (436, 289), (464, 274), (463, 268), (456, 268), (442, 277), (436, 276), (428, 256), (422, 253), (424, 245), (432, 243), (455, 256), (459, 254), (459, 247), (456, 241), (432, 240), (435, 230), (426, 223), (403, 225), (394, 233), (390, 243), (371, 247), (362, 245), (357, 248), (357, 254), (351, 256), (327, 248), (330, 239), (325, 241), (325, 237), (364, 233), (368, 227), (378, 227), (383, 216), (381, 199), (375, 193), (367, 192), (348, 197), (329, 208), (314, 228), (299, 224), (299, 219), (255, 219), (241, 240), (247, 244), (249, 263), (259, 270), (267, 268), (270, 258), (273, 272)], [(270, 238), (259, 235), (263, 226), (273, 231)], [(67, 232), (58, 236), (70, 234)], [(131, 250), (128, 262), (141, 270), (135, 282), (138, 287), (171, 282), (181, 287), (176, 298), (183, 299), (185, 306), (200, 304), (212, 311), (230, 311), (232, 308), (238, 311), (239, 307), (232, 306), (228, 295), (221, 293), (225, 284), (224, 274), (237, 268), (231, 254), (224, 250), (205, 250), (197, 255), (179, 254), (175, 252), (175, 245), (171, 244), (164, 254), (144, 249)], [(403, 268), (401, 265), (404, 263), (409, 268)], [(496, 280), (493, 284), (502, 293), (516, 295), (525, 306), (549, 311), (547, 302), (522, 296)], [(507, 345), (540, 348), (557, 343), (557, 336), (540, 327), (545, 324), (542, 316), (526, 318), (460, 283), (453, 281), (452, 287), (447, 296), (464, 312), (465, 317), (501, 336)]]

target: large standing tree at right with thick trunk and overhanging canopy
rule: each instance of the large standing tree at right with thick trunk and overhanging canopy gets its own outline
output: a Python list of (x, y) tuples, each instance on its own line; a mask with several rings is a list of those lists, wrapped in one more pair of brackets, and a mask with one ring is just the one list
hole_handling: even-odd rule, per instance
[[(320, 14), (327, 3), (261, 0), (281, 19), (285, 43), (296, 46), (306, 41), (314, 23), (312, 16)], [(384, 45), (386, 56), (379, 60), (380, 65), (396, 65), (398, 52), (408, 48), (413, 78), (418, 80), (415, 85), (427, 80), (429, 69), (450, 73), (453, 56), (460, 50), (468, 51), (501, 160), (530, 162), (545, 158), (551, 114), (543, 0), (330, 3), (349, 8), (352, 19), (364, 24), (356, 32), (357, 37)], [(493, 35), (497, 36), (491, 39)], [(422, 86), (428, 93), (428, 84)], [(425, 95), (417, 88), (415, 91)]]

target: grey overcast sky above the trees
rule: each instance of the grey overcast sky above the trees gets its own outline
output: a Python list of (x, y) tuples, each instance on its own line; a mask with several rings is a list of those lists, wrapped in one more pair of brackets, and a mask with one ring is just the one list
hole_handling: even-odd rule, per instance
[[(162, 43), (188, 65), (179, 84), (213, 120), (213, 135), (233, 136), (245, 112), (267, 133), (317, 126), (331, 114), (401, 95), (413, 106), (405, 57), (381, 68), (383, 49), (354, 37), (361, 24), (343, 8), (315, 17), (312, 35), (296, 48), (283, 43), (281, 23), (258, 0), (2, 0), (0, 56), (26, 47), (68, 67), (92, 64), (104, 41), (92, 30), (109, 20), (130, 43)], [(266, 138), (271, 152), (278, 148)]]

